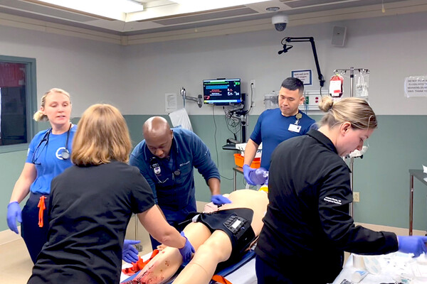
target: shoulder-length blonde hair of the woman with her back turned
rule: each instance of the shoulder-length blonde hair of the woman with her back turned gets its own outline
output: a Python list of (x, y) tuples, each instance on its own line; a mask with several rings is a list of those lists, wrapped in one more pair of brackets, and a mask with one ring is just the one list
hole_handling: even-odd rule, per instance
[(127, 163), (132, 149), (129, 130), (120, 111), (110, 104), (93, 104), (78, 122), (71, 160), (75, 165)]

